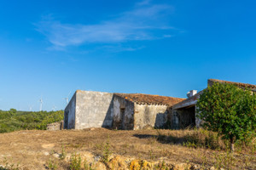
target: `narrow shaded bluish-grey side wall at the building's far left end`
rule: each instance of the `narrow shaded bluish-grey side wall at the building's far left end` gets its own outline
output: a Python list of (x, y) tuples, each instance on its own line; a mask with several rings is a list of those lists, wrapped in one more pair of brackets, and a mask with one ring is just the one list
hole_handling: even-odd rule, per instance
[(73, 94), (64, 111), (64, 128), (75, 128), (76, 94)]

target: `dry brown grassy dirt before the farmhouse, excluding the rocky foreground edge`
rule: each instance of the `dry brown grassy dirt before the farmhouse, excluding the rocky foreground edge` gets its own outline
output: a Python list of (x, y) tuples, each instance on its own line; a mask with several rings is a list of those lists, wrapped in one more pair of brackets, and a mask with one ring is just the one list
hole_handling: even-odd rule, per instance
[[(3, 165), (3, 161), (8, 161), (19, 164), (24, 169), (45, 169), (50, 154), (60, 155), (61, 145), (69, 156), (83, 152), (102, 156), (104, 145), (108, 142), (112, 155), (149, 161), (165, 160), (174, 164), (191, 162), (212, 167), (220, 163), (220, 159), (226, 159), (220, 157), (224, 150), (195, 149), (183, 145), (184, 136), (189, 133), (191, 133), (189, 130), (115, 131), (105, 128), (1, 133), (0, 165)], [(234, 169), (256, 169), (255, 156), (254, 150), (246, 153), (237, 152), (233, 160)]]

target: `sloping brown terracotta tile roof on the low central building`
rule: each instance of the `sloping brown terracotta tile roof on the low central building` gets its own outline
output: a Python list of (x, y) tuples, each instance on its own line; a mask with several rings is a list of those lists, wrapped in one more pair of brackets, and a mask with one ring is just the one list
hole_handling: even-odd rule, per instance
[(184, 99), (150, 94), (116, 94), (140, 105), (175, 105)]

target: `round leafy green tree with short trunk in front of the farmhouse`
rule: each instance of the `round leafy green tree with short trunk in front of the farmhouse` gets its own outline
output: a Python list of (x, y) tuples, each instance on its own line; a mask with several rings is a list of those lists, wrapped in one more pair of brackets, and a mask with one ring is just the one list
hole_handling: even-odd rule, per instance
[(236, 140), (255, 136), (256, 94), (250, 89), (216, 82), (203, 91), (197, 107), (202, 126), (229, 139), (231, 151)]

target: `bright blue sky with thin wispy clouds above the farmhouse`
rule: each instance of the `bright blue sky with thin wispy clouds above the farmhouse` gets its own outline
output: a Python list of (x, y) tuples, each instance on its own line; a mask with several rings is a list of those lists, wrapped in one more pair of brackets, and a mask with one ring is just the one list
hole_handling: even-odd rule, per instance
[[(0, 110), (61, 110), (76, 89), (185, 98), (256, 84), (256, 2), (0, 0)], [(70, 96), (71, 97), (71, 96)]]

